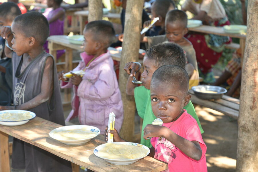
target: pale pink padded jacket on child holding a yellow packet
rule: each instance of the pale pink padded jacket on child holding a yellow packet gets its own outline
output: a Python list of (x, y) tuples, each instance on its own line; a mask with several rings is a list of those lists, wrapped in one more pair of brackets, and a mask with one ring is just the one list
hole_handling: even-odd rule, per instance
[[(85, 62), (89, 62), (93, 56), (85, 52), (80, 54), (82, 61), (73, 70), (84, 70)], [(109, 113), (114, 112), (115, 128), (120, 131), (124, 111), (121, 93), (118, 87), (114, 64), (111, 54), (101, 54), (86, 67), (85, 74), (79, 86), (71, 82), (61, 82), (61, 88), (72, 88), (74, 96), (72, 100), (72, 111), (66, 121), (79, 115), (81, 125), (91, 125), (100, 129), (104, 134), (108, 124)]]

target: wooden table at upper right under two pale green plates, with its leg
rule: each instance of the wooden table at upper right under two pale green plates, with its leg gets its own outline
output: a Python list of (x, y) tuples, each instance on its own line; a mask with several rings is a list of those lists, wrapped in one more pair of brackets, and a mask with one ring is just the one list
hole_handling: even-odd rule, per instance
[(245, 52), (246, 34), (226, 33), (224, 32), (223, 27), (215, 27), (215, 26), (208, 26), (208, 25), (202, 25), (199, 27), (190, 27), (188, 29), (189, 31), (194, 31), (194, 32), (239, 38), (240, 48), (241, 48), (241, 58), (243, 60), (244, 52)]

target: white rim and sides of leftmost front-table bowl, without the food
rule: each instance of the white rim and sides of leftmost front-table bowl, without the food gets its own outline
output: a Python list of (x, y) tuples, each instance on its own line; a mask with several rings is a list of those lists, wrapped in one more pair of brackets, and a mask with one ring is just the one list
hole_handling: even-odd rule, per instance
[[(0, 111), (0, 115), (5, 113), (5, 112), (9, 112), (9, 113), (28, 113), (30, 111), (27, 110), (3, 110)], [(27, 122), (29, 122), (29, 120), (33, 119), (36, 117), (36, 114), (33, 112), (30, 112), (31, 117), (29, 119), (26, 120), (20, 120), (20, 121), (3, 121), (0, 120), (0, 124), (1, 125), (7, 125), (7, 126), (16, 126), (16, 125), (22, 125), (22, 124), (26, 124)]]

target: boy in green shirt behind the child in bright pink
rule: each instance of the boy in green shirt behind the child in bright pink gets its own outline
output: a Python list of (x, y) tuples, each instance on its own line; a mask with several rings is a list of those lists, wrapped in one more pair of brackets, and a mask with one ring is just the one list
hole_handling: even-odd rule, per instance
[[(185, 60), (184, 52), (177, 44), (165, 43), (151, 47), (146, 51), (143, 59), (144, 72), (141, 75), (143, 86), (139, 87), (136, 87), (137, 85), (132, 83), (132, 76), (135, 76), (136, 72), (139, 72), (141, 64), (138, 62), (129, 62), (124, 67), (124, 70), (130, 75), (126, 85), (126, 94), (134, 96), (138, 114), (143, 118), (141, 133), (142, 145), (149, 148), (152, 147), (150, 140), (143, 139), (143, 129), (147, 124), (151, 124), (153, 120), (156, 119), (150, 103), (150, 82), (153, 73), (164, 65), (177, 65), (185, 68)], [(192, 102), (189, 101), (184, 109), (196, 119), (201, 133), (204, 133)]]

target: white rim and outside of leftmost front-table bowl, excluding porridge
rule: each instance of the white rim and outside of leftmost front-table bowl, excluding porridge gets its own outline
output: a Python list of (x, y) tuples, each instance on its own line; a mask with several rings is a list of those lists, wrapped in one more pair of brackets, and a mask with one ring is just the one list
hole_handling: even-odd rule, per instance
[[(23, 119), (23, 120), (8, 120), (8, 119), (2, 118), (6, 112), (21, 113), (21, 114), (28, 113), (29, 115), (28, 115), (28, 118)], [(26, 124), (27, 122), (29, 122), (29, 120), (31, 120), (35, 117), (36, 117), (35, 113), (27, 111), (27, 110), (2, 110), (2, 111), (0, 111), (0, 124), (7, 125), (7, 126), (22, 125), (22, 124)]]

